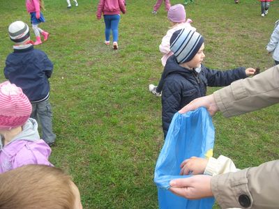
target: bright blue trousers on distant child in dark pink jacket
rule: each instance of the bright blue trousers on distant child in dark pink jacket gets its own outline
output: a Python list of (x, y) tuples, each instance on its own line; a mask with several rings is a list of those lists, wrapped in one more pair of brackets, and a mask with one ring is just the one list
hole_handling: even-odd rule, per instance
[(110, 40), (110, 31), (112, 31), (113, 41), (118, 41), (118, 25), (120, 15), (104, 15), (105, 20), (105, 40)]

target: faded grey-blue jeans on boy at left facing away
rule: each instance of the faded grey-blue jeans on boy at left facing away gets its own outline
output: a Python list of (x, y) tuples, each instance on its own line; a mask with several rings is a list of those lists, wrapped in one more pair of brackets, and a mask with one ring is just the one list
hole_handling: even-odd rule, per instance
[(36, 121), (42, 125), (43, 140), (47, 144), (53, 143), (56, 135), (52, 132), (52, 107), (50, 106), (50, 101), (45, 100), (43, 102), (31, 104), (31, 118), (36, 119)]

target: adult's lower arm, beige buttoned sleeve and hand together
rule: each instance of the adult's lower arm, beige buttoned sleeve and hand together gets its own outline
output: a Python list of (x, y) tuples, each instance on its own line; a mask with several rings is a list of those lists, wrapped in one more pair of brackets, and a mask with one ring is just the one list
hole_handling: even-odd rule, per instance
[(279, 160), (217, 176), (196, 175), (170, 182), (169, 190), (187, 199), (214, 196), (221, 208), (278, 208)]

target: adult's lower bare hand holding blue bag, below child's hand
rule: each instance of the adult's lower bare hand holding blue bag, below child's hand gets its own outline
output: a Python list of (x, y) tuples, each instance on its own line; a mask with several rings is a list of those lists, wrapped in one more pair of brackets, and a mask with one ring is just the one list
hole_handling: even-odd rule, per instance
[(209, 175), (196, 175), (189, 178), (171, 180), (169, 191), (187, 199), (201, 199), (213, 196)]

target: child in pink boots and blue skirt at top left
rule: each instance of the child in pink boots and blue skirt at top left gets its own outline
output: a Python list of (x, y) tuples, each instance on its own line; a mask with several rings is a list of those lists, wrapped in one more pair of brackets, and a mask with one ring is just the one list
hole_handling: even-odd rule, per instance
[(47, 33), (47, 31), (43, 31), (38, 27), (40, 22), (45, 22), (45, 17), (43, 17), (43, 13), (40, 12), (40, 9), (45, 10), (43, 0), (26, 0), (25, 5), (27, 7), (27, 12), (31, 15), (32, 29), (36, 36), (36, 42), (34, 42), (34, 45), (40, 45), (42, 43), (42, 40), (40, 40), (40, 33), (42, 33), (44, 41), (50, 36), (50, 33)]

